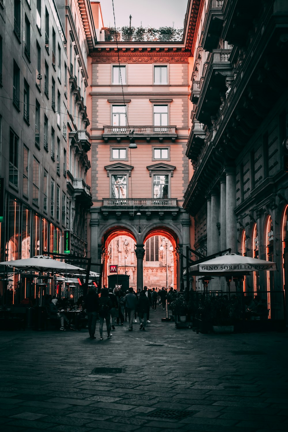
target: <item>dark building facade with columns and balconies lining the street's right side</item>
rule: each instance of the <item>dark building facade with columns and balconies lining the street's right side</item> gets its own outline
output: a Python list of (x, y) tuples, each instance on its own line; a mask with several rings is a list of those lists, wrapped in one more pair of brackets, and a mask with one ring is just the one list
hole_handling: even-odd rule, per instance
[(256, 1), (247, 15), (244, 2), (206, 0), (199, 18), (187, 144), (194, 174), (184, 201), (194, 248), (275, 261), (277, 271), (246, 276), (244, 290), (262, 292), (279, 318), (288, 286), (288, 4)]

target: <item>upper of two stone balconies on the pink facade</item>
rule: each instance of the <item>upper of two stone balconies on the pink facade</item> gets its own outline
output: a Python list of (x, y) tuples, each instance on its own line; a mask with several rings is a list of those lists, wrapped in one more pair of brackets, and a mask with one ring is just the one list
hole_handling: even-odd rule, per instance
[[(147, 143), (151, 139), (159, 140), (161, 143), (164, 139), (174, 142), (177, 138), (176, 126), (130, 126), (130, 130), (134, 131), (133, 137), (145, 139)], [(127, 126), (104, 126), (104, 133), (102, 137), (105, 143), (108, 140), (127, 140), (129, 134), (129, 127)]]

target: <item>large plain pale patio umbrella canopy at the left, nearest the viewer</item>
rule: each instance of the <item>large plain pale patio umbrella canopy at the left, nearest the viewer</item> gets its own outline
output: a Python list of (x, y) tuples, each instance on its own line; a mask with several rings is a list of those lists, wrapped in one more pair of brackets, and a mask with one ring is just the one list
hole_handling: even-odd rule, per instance
[(81, 267), (63, 263), (62, 261), (53, 260), (44, 255), (38, 255), (32, 258), (22, 260), (2, 261), (0, 266), (16, 267), (19, 270), (46, 272), (46, 273), (79, 273), (84, 271)]

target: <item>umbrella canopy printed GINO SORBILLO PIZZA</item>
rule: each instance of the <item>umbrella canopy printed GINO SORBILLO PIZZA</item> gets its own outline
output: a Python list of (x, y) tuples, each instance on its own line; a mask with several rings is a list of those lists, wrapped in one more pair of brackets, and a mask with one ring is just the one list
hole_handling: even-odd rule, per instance
[(275, 271), (276, 264), (272, 261), (258, 260), (257, 258), (243, 257), (236, 254), (225, 254), (212, 260), (190, 266), (190, 274), (217, 274), (224, 276), (228, 273), (248, 273), (250, 271)]

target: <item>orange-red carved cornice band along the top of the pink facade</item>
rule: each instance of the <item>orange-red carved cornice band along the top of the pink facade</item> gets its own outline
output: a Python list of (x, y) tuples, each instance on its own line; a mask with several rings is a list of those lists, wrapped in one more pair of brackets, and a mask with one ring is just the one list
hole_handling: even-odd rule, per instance
[[(117, 51), (93, 52), (92, 63), (118, 63)], [(119, 52), (121, 63), (188, 63), (189, 52)]]

